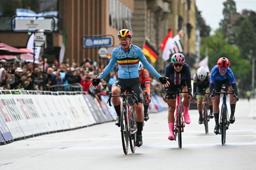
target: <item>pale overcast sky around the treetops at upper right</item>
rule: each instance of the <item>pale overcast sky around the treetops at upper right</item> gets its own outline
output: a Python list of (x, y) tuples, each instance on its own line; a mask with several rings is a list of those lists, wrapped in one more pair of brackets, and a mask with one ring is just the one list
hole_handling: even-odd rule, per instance
[[(226, 0), (196, 0), (196, 5), (206, 24), (211, 27), (211, 34), (219, 28), (219, 22), (223, 19), (223, 2)], [(256, 0), (234, 0), (236, 2), (236, 10), (241, 13), (243, 9), (256, 11)]]

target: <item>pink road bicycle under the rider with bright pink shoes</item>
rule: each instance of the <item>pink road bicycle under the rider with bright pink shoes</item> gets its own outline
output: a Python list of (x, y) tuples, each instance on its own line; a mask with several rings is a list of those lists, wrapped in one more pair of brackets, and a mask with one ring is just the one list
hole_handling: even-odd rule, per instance
[(174, 139), (175, 141), (176, 141), (176, 137), (178, 136), (179, 148), (182, 148), (182, 135), (181, 134), (182, 134), (182, 132), (184, 132), (184, 127), (185, 127), (185, 122), (184, 122), (183, 114), (182, 114), (182, 107), (180, 104), (180, 94), (181, 93), (188, 93), (189, 96), (192, 96), (190, 88), (188, 89), (187, 92), (182, 92), (182, 91), (180, 91), (179, 88), (177, 89), (176, 92), (169, 92), (169, 90), (167, 89), (165, 91), (165, 96), (164, 96), (164, 100), (165, 100), (165, 99), (170, 99), (169, 98), (170, 95), (177, 94), (176, 114), (175, 114), (175, 120), (174, 120), (175, 125), (174, 125), (173, 132), (175, 133), (175, 139)]

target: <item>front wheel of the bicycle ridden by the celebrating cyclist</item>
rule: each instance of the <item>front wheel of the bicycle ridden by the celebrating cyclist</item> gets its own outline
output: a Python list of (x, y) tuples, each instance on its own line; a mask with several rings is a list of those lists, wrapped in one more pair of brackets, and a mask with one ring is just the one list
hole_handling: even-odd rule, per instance
[(128, 125), (127, 125), (127, 113), (126, 113), (126, 108), (122, 108), (121, 112), (121, 136), (122, 136), (122, 148), (124, 150), (124, 154), (128, 153)]

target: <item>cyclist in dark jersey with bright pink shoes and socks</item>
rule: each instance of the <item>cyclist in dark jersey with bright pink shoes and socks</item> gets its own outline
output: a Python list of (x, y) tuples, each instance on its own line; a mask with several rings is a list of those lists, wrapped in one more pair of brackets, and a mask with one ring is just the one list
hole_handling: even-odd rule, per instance
[[(179, 88), (181, 91), (187, 91), (191, 89), (191, 74), (189, 65), (185, 63), (185, 56), (181, 53), (173, 54), (171, 58), (171, 63), (165, 67), (165, 77), (168, 77), (170, 82), (169, 87), (167, 88), (169, 92), (176, 92)], [(189, 96), (187, 93), (183, 94), (184, 101), (184, 114), (185, 123), (189, 124), (191, 122), (189, 118), (189, 99), (192, 100), (192, 96)], [(169, 99), (166, 101), (169, 107), (168, 110), (168, 126), (169, 126), (169, 140), (174, 140), (174, 111), (176, 106), (176, 95), (169, 96)]]

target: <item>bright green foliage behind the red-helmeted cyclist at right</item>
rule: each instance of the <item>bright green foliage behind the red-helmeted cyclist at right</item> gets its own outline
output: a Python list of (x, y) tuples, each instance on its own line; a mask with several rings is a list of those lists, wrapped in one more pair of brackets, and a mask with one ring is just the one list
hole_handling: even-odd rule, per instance
[(220, 30), (215, 31), (215, 34), (202, 39), (200, 49), (201, 56), (205, 56), (205, 50), (208, 48), (208, 66), (210, 69), (217, 65), (217, 61), (221, 57), (226, 57), (230, 61), (230, 69), (234, 72), (236, 80), (243, 83), (240, 88), (247, 88), (250, 82), (251, 65), (249, 61), (243, 59), (239, 54), (239, 48), (236, 45), (230, 45), (223, 38), (223, 33)]

